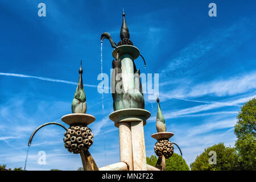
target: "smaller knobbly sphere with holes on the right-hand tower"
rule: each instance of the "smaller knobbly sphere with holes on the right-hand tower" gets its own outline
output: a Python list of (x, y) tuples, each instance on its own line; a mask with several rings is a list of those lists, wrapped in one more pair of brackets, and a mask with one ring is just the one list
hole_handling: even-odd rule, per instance
[(174, 145), (168, 139), (159, 139), (155, 143), (154, 149), (157, 156), (164, 155), (166, 159), (174, 154)]

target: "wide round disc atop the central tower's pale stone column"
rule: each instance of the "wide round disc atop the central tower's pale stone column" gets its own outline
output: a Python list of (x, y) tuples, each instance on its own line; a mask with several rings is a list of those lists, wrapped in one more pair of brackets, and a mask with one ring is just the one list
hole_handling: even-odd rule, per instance
[(119, 122), (133, 121), (143, 121), (143, 125), (146, 125), (146, 120), (150, 115), (150, 111), (145, 109), (131, 108), (114, 111), (109, 115), (109, 119), (115, 122), (115, 127), (118, 127)]

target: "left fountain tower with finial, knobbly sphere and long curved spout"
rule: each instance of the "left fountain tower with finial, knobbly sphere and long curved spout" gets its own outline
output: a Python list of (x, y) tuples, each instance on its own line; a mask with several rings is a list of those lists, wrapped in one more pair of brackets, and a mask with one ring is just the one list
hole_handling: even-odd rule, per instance
[(64, 115), (61, 120), (69, 125), (69, 129), (60, 123), (46, 123), (41, 125), (32, 133), (28, 146), (30, 146), (32, 138), (36, 131), (46, 125), (59, 125), (66, 131), (64, 133), (64, 146), (69, 152), (73, 154), (80, 154), (82, 159), (82, 165), (86, 171), (98, 171), (98, 167), (89, 152), (90, 146), (93, 144), (92, 130), (88, 125), (95, 121), (95, 117), (90, 114), (86, 114), (86, 97), (84, 92), (84, 85), (82, 84), (82, 61), (79, 69), (79, 82), (77, 84), (75, 96), (72, 102), (72, 114)]

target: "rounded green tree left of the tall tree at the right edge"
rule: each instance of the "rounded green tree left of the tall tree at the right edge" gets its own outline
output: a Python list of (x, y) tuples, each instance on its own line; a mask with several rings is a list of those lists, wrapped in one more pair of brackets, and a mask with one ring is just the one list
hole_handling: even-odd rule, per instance
[[(216, 164), (209, 164), (210, 151), (216, 152)], [(204, 152), (190, 164), (191, 171), (231, 171), (238, 169), (238, 155), (235, 148), (225, 147), (224, 143), (205, 148)]]

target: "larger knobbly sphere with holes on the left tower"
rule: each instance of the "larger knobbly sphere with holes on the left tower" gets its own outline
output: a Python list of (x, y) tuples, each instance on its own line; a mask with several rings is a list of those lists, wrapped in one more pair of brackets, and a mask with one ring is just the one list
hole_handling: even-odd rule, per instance
[(74, 154), (79, 154), (82, 150), (88, 150), (93, 144), (92, 130), (84, 125), (70, 126), (64, 136), (65, 148)]

